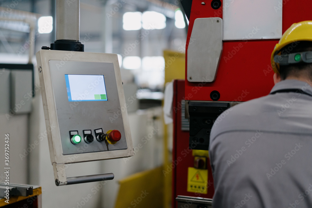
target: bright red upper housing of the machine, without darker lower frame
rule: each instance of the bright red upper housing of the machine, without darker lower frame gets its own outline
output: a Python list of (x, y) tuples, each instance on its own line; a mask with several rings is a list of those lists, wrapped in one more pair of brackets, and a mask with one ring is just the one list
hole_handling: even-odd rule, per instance
[[(186, 76), (188, 70), (187, 50), (195, 19), (222, 18), (223, 15), (223, 7), (215, 10), (211, 7), (210, 2), (206, 2), (205, 5), (201, 4), (202, 1), (199, 0), (192, 2), (186, 42)], [(221, 2), (223, 5), (223, 0)], [(295, 22), (312, 20), (311, 6), (310, 0), (300, 2), (283, 0), (283, 32)], [(242, 24), (244, 23), (242, 22)], [(278, 43), (277, 39), (223, 41), (223, 52), (216, 80), (208, 84), (186, 81), (185, 99), (211, 100), (209, 95), (213, 90), (220, 93), (218, 101), (247, 101), (269, 94), (274, 85), (271, 53), (276, 43)], [(243, 91), (247, 91), (247, 95), (244, 97), (241, 96)]]

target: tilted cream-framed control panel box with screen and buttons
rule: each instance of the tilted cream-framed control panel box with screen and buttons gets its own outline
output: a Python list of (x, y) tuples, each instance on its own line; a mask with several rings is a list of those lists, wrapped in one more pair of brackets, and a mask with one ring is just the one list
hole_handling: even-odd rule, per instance
[(36, 56), (51, 162), (133, 156), (117, 55), (40, 50)]

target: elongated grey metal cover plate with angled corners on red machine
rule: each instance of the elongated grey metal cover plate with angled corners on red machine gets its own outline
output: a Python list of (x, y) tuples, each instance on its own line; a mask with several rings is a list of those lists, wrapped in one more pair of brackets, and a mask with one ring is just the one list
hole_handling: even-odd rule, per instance
[(213, 82), (222, 53), (222, 19), (197, 18), (188, 45), (188, 81)]

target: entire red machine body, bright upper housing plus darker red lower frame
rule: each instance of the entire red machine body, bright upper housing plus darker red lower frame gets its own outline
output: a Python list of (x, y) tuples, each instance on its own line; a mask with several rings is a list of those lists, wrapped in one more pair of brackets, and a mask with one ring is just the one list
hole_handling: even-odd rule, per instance
[[(188, 26), (186, 42), (186, 70), (187, 54), (193, 24), (196, 18), (223, 16), (222, 6), (215, 10), (211, 7), (211, 0), (202, 4), (202, 0), (193, 0)], [(284, 33), (293, 23), (312, 20), (310, 0), (283, 0), (282, 32)], [(247, 8), (246, 8), (247, 9)], [(242, 22), (242, 24), (244, 24)], [(181, 100), (211, 101), (210, 93), (217, 90), (220, 93), (218, 101), (248, 101), (269, 94), (273, 83), (273, 69), (271, 67), (271, 53), (277, 39), (223, 41), (223, 51), (217, 71), (216, 80), (212, 83), (192, 83), (187, 80), (174, 81), (173, 96), (173, 161), (178, 157), (183, 160), (173, 169), (172, 207), (177, 207), (175, 198), (178, 195), (212, 198), (214, 187), (211, 167), (208, 160), (208, 193), (201, 196), (187, 192), (188, 167), (194, 166), (194, 157), (185, 150), (189, 150), (189, 132), (181, 130)], [(198, 57), (199, 59), (201, 57)]]

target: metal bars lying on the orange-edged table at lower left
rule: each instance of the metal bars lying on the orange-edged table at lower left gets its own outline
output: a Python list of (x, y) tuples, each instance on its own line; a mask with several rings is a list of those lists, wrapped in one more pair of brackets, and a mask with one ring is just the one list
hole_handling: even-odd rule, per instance
[(29, 196), (33, 194), (33, 187), (29, 185), (17, 185), (17, 184), (9, 184), (5, 185), (4, 183), (0, 183), (0, 197), (5, 197), (6, 193), (4, 191), (7, 190), (7, 186), (9, 186), (9, 196)]

